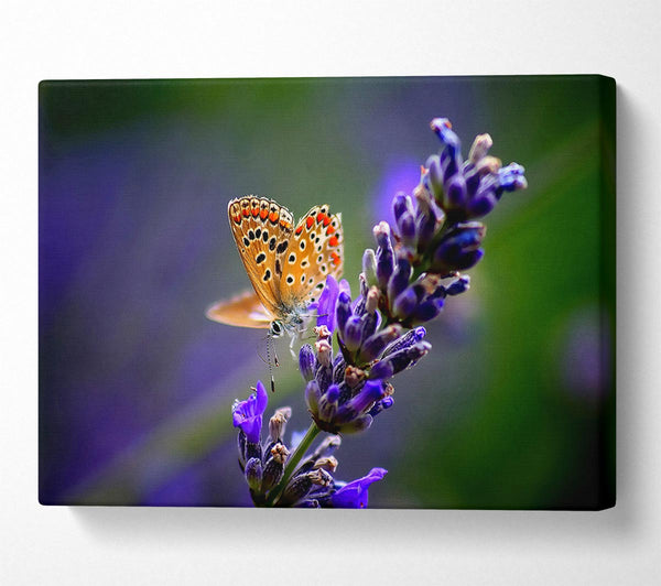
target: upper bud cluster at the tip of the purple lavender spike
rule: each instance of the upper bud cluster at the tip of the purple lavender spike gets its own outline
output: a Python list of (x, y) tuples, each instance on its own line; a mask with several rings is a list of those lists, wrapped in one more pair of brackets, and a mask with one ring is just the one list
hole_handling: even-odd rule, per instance
[(473, 218), (491, 211), (503, 193), (527, 186), (521, 165), (502, 167), (488, 155), (492, 145), (488, 134), (475, 139), (463, 161), (449, 121), (436, 118), (431, 128), (442, 142), (440, 153), (422, 167), (412, 195), (394, 196), (394, 226), (377, 225), (377, 249), (362, 257), (364, 278), (380, 293), (378, 306), (387, 325), (414, 327), (429, 322), (448, 295), (466, 291), (468, 282), (459, 271), (481, 260), (486, 235), (486, 227)]

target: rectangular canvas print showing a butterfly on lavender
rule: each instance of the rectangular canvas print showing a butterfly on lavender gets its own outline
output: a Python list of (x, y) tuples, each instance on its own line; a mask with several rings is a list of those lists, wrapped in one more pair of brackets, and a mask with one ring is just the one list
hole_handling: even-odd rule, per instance
[(42, 82), (44, 504), (615, 503), (615, 82)]

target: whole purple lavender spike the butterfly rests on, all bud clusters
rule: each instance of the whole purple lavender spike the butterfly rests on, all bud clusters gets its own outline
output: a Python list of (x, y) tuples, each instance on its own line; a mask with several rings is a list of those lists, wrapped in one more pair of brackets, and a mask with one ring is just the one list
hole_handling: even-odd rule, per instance
[[(281, 408), (262, 444), (268, 398), (261, 382), (246, 401), (235, 402), (239, 464), (257, 506), (367, 507), (370, 485), (387, 471), (372, 468), (351, 482), (336, 481), (336, 434), (365, 431), (393, 405), (393, 377), (432, 348), (421, 324), (434, 319), (448, 297), (469, 289), (460, 271), (481, 260), (486, 235), (475, 218), (489, 214), (506, 192), (527, 186), (521, 165), (503, 167), (488, 154), (488, 134), (475, 139), (464, 161), (449, 121), (436, 118), (431, 128), (442, 148), (427, 159), (412, 194), (394, 195), (393, 224), (375, 226), (377, 246), (362, 256), (359, 295), (353, 300), (347, 281), (328, 276), (310, 306), (317, 314), (317, 339), (301, 347), (299, 369), (313, 423), (301, 442), (286, 447), (291, 409)], [(333, 435), (308, 453), (322, 431)]]

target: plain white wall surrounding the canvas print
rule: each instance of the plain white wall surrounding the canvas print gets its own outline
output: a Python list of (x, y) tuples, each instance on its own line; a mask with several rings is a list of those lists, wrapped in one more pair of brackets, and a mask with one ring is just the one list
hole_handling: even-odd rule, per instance
[[(0, 583), (658, 579), (659, 2), (184, 4), (10, 1), (0, 11)], [(40, 79), (533, 73), (602, 73), (619, 84), (615, 509), (315, 513), (37, 504)]]

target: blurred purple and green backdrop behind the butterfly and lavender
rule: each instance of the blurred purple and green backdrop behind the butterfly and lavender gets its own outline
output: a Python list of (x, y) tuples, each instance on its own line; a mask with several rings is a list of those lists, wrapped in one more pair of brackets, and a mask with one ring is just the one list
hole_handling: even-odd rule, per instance
[[(467, 155), (525, 166), (486, 218), (472, 289), (427, 327), (395, 404), (336, 476), (370, 507), (598, 508), (615, 495), (614, 86), (596, 76), (40, 85), (40, 500), (247, 506), (230, 405), (267, 380), (263, 332), (208, 322), (249, 286), (227, 202), (343, 213), (358, 289), (371, 227), (447, 117)], [(289, 431), (308, 425), (279, 346)]]

